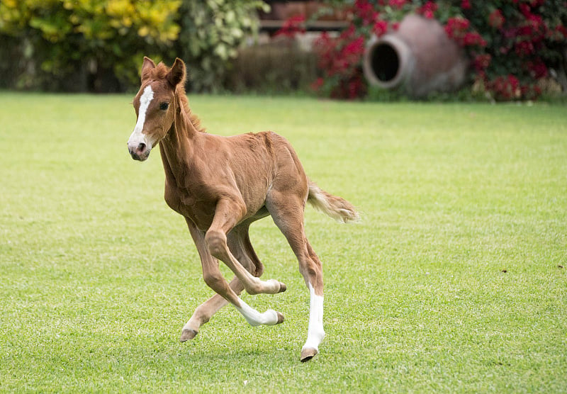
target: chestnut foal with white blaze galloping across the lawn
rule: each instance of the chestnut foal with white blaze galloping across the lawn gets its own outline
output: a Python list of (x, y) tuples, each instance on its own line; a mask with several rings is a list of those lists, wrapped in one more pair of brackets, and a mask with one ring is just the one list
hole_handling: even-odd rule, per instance
[[(199, 327), (231, 303), (252, 326), (276, 325), (283, 315), (259, 313), (238, 296), (280, 293), (286, 285), (259, 276), (259, 261), (248, 235), (249, 225), (271, 215), (299, 261), (310, 292), (307, 341), (301, 361), (318, 353), (325, 336), (322, 325), (321, 261), (305, 237), (305, 201), (342, 222), (358, 219), (355, 208), (309, 181), (287, 140), (271, 133), (220, 137), (204, 133), (191, 114), (185, 95), (185, 64), (179, 58), (171, 69), (145, 57), (142, 86), (133, 105), (137, 121), (128, 140), (135, 160), (143, 161), (159, 143), (165, 170), (165, 201), (184, 216), (203, 266), (203, 278), (217, 294), (198, 306), (181, 332), (181, 342), (193, 339)], [(235, 274), (227, 283), (218, 260)]]

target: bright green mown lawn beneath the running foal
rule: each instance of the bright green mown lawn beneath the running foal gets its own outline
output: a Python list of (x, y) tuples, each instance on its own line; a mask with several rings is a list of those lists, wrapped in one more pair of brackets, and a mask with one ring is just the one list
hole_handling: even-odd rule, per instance
[[(126, 149), (131, 96), (0, 94), (0, 391), (567, 391), (567, 108), (191, 96), (210, 133), (274, 130), (357, 225), (306, 211), (324, 262), (320, 354), (299, 363), (308, 291), (269, 218), (279, 295), (211, 295), (157, 152)], [(228, 271), (223, 271), (228, 276)]]

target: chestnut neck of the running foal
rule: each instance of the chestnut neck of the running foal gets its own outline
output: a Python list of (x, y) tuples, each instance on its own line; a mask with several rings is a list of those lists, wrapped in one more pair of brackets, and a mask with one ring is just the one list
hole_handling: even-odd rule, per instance
[(172, 127), (161, 142), (159, 150), (162, 153), (165, 174), (168, 181), (174, 181), (177, 186), (187, 186), (191, 159), (195, 150), (195, 140), (200, 134), (191, 123), (191, 116), (181, 99), (184, 92), (176, 91), (174, 105), (175, 118)]

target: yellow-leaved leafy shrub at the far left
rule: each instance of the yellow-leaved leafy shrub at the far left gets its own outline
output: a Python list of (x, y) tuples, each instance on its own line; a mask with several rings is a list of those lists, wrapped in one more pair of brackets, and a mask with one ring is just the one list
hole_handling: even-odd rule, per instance
[(14, 87), (105, 90), (100, 84), (110, 74), (118, 86), (108, 88), (120, 90), (137, 79), (144, 55), (159, 55), (172, 47), (179, 34), (174, 19), (180, 4), (4, 0), (0, 32), (11, 37), (11, 46), (24, 48), (20, 62), (26, 64)]

